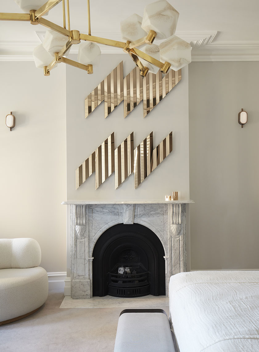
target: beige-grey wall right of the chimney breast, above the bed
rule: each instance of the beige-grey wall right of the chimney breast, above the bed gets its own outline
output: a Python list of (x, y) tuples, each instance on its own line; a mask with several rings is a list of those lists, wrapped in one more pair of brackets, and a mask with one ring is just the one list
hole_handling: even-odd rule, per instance
[(259, 269), (258, 92), (259, 62), (189, 65), (192, 270)]

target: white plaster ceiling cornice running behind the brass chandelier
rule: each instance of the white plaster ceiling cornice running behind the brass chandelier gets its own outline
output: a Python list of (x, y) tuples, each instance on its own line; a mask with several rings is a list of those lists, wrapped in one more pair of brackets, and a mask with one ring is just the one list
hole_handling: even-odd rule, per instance
[[(32, 61), (32, 51), (43, 42), (46, 31), (35, 31), (38, 41), (0, 41), (0, 61)], [(87, 34), (87, 32), (82, 32)], [(215, 42), (217, 31), (180, 31), (176, 35), (192, 45), (192, 61), (259, 61), (259, 41)], [(102, 37), (103, 32), (96, 32)], [(118, 32), (106, 32), (105, 36), (121, 41)], [(100, 45), (103, 54), (123, 54), (120, 48)], [(77, 54), (78, 46), (73, 45), (71, 54)], [(125, 54), (126, 55), (126, 54)]]

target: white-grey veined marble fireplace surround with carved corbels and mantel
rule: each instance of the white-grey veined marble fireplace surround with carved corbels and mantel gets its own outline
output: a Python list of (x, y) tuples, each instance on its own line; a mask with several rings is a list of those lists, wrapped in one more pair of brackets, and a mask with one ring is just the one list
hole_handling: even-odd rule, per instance
[(186, 271), (186, 204), (178, 201), (66, 201), (70, 205), (71, 297), (92, 297), (93, 247), (116, 224), (141, 224), (152, 230), (164, 248), (166, 295), (169, 278)]

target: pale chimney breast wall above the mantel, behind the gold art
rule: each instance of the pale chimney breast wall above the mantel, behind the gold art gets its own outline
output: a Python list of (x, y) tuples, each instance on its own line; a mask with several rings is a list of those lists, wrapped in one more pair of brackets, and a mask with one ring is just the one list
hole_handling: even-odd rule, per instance
[[(143, 119), (141, 102), (124, 119), (123, 102), (104, 119), (104, 102), (85, 119), (85, 98), (118, 65), (124, 62), (124, 77), (135, 67), (126, 54), (102, 54), (100, 66), (88, 75), (82, 70), (66, 67), (67, 96), (67, 199), (164, 199), (179, 191), (179, 198), (189, 198), (188, 141), (188, 68), (182, 70), (182, 80), (159, 105)], [(95, 174), (76, 190), (75, 172), (86, 158), (112, 133), (115, 148), (134, 131), (134, 147), (153, 131), (157, 146), (173, 131), (173, 151), (134, 190), (134, 175), (130, 175), (117, 190), (112, 174), (95, 190)]]

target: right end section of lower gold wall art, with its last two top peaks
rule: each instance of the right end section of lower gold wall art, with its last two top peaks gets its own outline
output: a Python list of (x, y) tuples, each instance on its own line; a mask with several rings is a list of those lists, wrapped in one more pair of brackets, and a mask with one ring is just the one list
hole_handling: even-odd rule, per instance
[(141, 182), (171, 153), (173, 150), (173, 132), (170, 132), (164, 140), (153, 150), (153, 132), (151, 132), (134, 149), (134, 188)]

